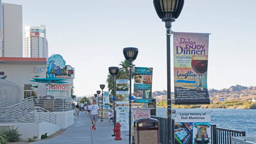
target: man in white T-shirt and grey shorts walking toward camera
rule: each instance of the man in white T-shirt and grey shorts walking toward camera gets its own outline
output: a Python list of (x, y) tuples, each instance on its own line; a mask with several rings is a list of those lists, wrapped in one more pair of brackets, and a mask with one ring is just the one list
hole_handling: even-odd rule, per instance
[[(91, 117), (92, 121), (92, 129), (96, 130), (96, 121), (98, 120), (98, 115), (99, 115), (99, 106), (96, 104), (96, 100), (92, 100), (92, 105), (90, 106), (90, 114), (89, 117)], [(94, 123), (93, 123), (94, 121)]]

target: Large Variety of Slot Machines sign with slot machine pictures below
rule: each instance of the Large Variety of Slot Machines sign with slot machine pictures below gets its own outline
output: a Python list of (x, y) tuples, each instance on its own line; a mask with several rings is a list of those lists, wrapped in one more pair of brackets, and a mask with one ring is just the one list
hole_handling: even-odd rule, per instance
[(211, 110), (175, 109), (175, 144), (211, 143)]

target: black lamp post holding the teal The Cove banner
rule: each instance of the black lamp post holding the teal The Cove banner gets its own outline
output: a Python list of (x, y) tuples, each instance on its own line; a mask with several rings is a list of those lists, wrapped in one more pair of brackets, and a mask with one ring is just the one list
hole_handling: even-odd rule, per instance
[(130, 92), (129, 92), (129, 144), (131, 144), (131, 107), (132, 107), (132, 62), (137, 58), (138, 49), (133, 47), (128, 47), (123, 49), (124, 57), (127, 61), (129, 61), (130, 65)]

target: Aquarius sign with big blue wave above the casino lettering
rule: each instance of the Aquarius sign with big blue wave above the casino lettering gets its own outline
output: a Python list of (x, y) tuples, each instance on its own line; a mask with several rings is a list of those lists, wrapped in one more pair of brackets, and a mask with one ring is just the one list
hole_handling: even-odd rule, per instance
[(47, 75), (49, 77), (74, 78), (74, 68), (66, 65), (66, 61), (59, 54), (49, 57), (47, 65)]

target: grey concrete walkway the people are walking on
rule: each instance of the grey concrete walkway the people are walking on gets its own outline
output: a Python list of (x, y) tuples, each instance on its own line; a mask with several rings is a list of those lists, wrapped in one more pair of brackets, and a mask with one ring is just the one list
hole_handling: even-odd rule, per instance
[(69, 126), (61, 135), (46, 141), (36, 141), (30, 144), (128, 144), (129, 131), (121, 131), (123, 140), (115, 141), (113, 134), (113, 125), (98, 119), (96, 130), (92, 130), (92, 124), (89, 116), (80, 112), (79, 117), (74, 119), (74, 124)]

